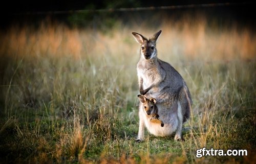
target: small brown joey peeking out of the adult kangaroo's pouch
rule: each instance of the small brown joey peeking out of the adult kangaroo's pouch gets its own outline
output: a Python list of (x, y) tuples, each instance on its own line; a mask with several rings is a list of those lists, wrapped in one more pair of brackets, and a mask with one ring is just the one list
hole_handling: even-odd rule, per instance
[(138, 95), (138, 98), (141, 103), (143, 103), (144, 115), (147, 116), (147, 119), (150, 120), (151, 123), (160, 124), (161, 127), (164, 126), (163, 122), (159, 119), (158, 109), (156, 106), (156, 99), (150, 98), (147, 99), (143, 95)]

